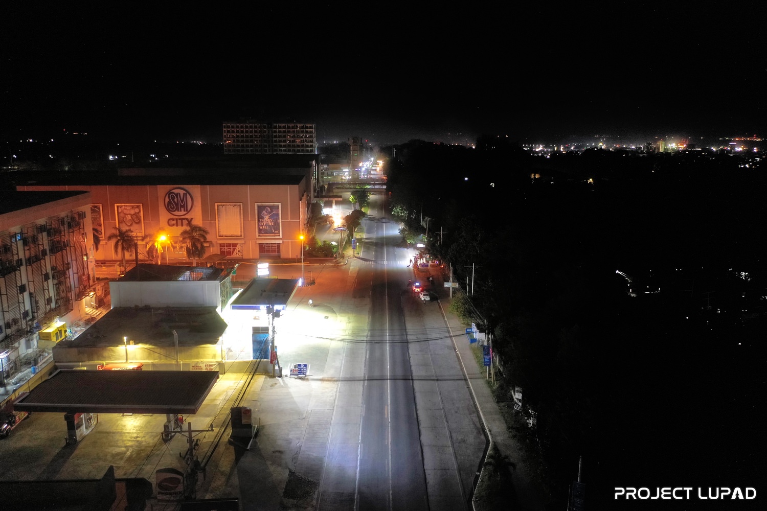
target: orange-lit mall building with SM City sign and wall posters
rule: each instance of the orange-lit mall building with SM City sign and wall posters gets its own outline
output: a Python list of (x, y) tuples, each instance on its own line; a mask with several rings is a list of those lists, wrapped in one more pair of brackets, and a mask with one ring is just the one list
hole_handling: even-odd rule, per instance
[[(117, 176), (67, 173), (54, 178), (66, 184), (38, 180), (17, 190), (90, 192), (97, 263), (121, 260), (114, 242), (107, 243), (117, 228), (132, 231), (141, 260), (146, 261), (147, 244), (160, 239), (156, 262), (189, 260), (181, 233), (193, 224), (208, 231), (206, 255), (288, 259), (301, 257), (299, 236), (314, 198), (314, 165), (308, 157), (295, 168), (249, 172), (217, 167), (163, 169), (164, 175), (147, 175), (146, 169), (123, 169)], [(127, 257), (132, 260), (133, 254)]]

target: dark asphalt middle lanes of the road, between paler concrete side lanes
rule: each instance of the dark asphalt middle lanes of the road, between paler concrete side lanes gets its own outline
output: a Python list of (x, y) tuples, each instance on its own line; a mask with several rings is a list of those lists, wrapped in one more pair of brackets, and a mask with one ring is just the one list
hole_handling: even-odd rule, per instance
[[(374, 200), (374, 205), (380, 202)], [(371, 208), (376, 210), (380, 207)], [(383, 214), (371, 217), (366, 220), (362, 260), (373, 260), (374, 264), (357, 274), (357, 282), (370, 287), (358, 509), (427, 509), (402, 310), (403, 296), (409, 293), (403, 261), (410, 256), (392, 246), (401, 239), (398, 224), (387, 222)]]

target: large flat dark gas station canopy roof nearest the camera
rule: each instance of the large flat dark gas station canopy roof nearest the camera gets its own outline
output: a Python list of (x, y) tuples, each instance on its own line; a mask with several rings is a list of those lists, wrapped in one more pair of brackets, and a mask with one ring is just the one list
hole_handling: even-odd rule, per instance
[(13, 405), (18, 411), (195, 414), (218, 371), (54, 372)]

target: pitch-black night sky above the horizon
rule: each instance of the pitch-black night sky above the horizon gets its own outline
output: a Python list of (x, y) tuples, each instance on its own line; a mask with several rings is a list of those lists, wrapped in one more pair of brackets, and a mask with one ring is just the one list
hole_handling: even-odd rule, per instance
[(381, 144), (765, 133), (756, 2), (104, 5), (0, 8), (4, 139), (219, 142), (241, 117)]

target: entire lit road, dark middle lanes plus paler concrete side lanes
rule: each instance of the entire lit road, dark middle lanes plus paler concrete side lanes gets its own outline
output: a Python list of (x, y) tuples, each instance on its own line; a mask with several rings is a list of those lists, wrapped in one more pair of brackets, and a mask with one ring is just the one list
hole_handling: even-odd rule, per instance
[(408, 287), (413, 254), (394, 247), (399, 228), (374, 196), (338, 307), (346, 340), (322, 511), (468, 509), (484, 437), (439, 303)]

